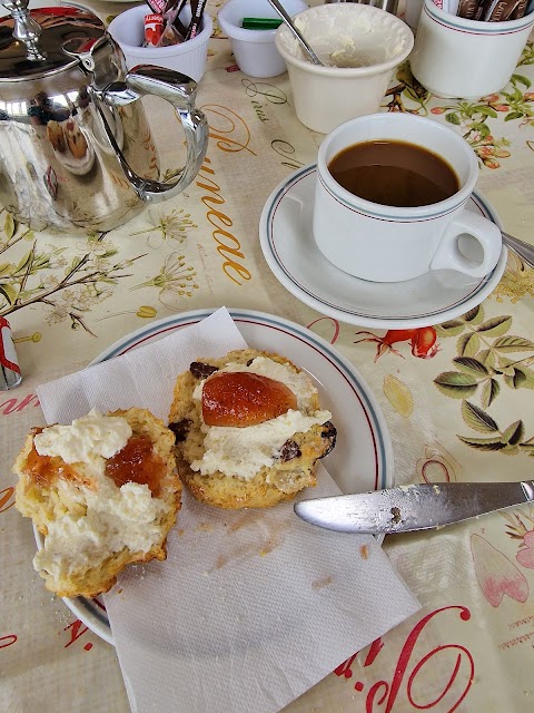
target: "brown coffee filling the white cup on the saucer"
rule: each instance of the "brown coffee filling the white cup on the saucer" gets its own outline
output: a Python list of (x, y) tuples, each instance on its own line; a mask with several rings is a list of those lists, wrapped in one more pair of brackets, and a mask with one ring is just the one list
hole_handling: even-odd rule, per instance
[(449, 198), (459, 188), (447, 162), (407, 141), (355, 144), (328, 165), (332, 176), (355, 196), (402, 207), (429, 205)]

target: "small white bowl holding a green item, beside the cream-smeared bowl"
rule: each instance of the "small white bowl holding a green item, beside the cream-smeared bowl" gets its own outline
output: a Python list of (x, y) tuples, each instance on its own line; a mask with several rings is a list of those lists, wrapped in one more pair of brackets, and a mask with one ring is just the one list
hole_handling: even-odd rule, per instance
[[(307, 10), (304, 0), (281, 0), (289, 16)], [(286, 62), (276, 49), (276, 30), (247, 30), (244, 18), (276, 18), (279, 14), (268, 0), (228, 0), (217, 16), (222, 32), (229, 38), (239, 69), (250, 77), (277, 77), (287, 71)]]

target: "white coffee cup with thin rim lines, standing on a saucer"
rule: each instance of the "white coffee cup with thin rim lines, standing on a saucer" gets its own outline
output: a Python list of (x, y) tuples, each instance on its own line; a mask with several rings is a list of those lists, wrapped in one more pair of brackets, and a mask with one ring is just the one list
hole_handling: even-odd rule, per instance
[[(437, 154), (456, 174), (458, 191), (418, 207), (382, 205), (349, 193), (328, 166), (344, 149), (373, 140), (404, 141)], [(317, 246), (339, 270), (373, 282), (400, 282), (447, 268), (483, 277), (497, 264), (502, 236), (494, 223), (466, 209), (477, 177), (471, 146), (435, 120), (380, 113), (346, 121), (326, 136), (318, 152)]]

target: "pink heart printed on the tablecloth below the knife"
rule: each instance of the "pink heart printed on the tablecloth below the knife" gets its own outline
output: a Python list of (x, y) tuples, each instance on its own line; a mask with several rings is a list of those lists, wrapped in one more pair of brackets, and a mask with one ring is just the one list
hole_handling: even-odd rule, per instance
[[(505, 594), (522, 604), (526, 602), (528, 582), (506, 555), (503, 555), (502, 551), (490, 545), (479, 535), (472, 536), (471, 551), (476, 578), (484, 596), (492, 606), (497, 607)], [(532, 553), (534, 555), (534, 549)]]

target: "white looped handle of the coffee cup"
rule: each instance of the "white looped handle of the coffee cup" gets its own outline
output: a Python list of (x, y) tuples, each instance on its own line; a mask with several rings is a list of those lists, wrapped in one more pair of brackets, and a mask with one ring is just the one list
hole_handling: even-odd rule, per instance
[[(473, 251), (473, 241), (478, 243), (476, 251)], [(501, 231), (495, 223), (464, 208), (447, 226), (432, 258), (431, 270), (457, 270), (473, 277), (484, 277), (497, 264), (502, 242)]]

